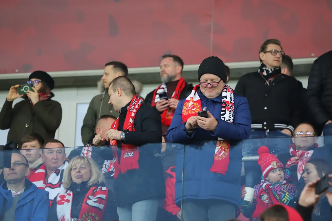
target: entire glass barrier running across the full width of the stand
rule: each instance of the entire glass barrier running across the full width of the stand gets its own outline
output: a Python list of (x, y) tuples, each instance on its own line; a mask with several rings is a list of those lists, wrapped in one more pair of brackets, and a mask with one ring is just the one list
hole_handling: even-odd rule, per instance
[[(332, 173), (324, 140), (247, 139), (229, 149), (219, 140), (0, 151), (0, 204), (12, 190), (18, 202), (29, 199), (20, 210), (28, 208), (20, 213), (25, 220), (255, 219), (272, 204), (294, 206), (307, 182)], [(331, 215), (322, 196), (313, 217)]]

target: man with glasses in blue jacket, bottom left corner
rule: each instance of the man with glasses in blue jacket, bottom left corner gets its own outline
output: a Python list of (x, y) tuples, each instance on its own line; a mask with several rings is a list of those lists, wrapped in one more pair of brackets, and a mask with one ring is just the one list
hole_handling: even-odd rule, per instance
[(27, 158), (12, 153), (11, 168), (4, 168), (5, 182), (0, 187), (0, 220), (47, 220), (48, 192), (27, 180), (29, 173)]

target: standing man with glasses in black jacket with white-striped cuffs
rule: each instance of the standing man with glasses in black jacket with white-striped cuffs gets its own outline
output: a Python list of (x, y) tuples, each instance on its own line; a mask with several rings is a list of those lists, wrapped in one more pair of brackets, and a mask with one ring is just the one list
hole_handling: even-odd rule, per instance
[[(257, 72), (243, 75), (235, 92), (249, 102), (252, 118), (250, 138), (279, 138), (247, 140), (243, 155), (257, 155), (258, 147), (266, 145), (273, 154), (289, 151), (290, 137), (300, 123), (301, 102), (296, 79), (281, 73), (285, 52), (277, 39), (266, 40), (260, 50), (261, 66)], [(246, 186), (260, 182), (257, 162), (245, 162)]]

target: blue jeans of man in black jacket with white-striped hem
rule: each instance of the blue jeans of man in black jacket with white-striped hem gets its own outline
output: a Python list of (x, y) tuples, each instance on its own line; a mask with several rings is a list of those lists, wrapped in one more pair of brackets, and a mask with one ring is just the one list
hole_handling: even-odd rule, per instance
[[(258, 156), (258, 148), (267, 146), (270, 153), (279, 155), (289, 152), (291, 138), (287, 134), (277, 131), (252, 130), (249, 139), (243, 142), (243, 156)], [(244, 171), (246, 187), (254, 188), (259, 184), (262, 176), (262, 169), (257, 161), (245, 161)]]

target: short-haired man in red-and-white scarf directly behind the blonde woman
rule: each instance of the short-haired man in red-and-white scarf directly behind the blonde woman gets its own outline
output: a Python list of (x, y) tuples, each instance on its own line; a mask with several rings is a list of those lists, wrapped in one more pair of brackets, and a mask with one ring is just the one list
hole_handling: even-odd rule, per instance
[(41, 160), (44, 163), (29, 180), (39, 189), (49, 192), (49, 199), (53, 200), (58, 193), (64, 190), (62, 178), (69, 163), (66, 161), (64, 145), (59, 140), (48, 140), (41, 153)]

